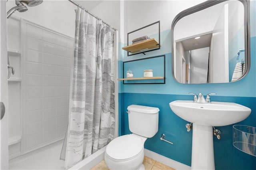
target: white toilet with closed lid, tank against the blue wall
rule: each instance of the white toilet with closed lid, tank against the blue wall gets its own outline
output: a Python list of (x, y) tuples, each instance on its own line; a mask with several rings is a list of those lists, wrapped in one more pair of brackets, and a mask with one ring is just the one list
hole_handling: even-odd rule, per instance
[(132, 134), (119, 136), (106, 147), (105, 161), (110, 170), (144, 170), (144, 142), (158, 131), (157, 107), (127, 107)]

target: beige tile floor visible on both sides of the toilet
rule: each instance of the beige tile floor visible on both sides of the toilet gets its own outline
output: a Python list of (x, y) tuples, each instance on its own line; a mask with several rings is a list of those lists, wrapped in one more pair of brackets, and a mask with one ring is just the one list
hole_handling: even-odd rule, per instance
[[(145, 166), (145, 170), (175, 170), (170, 166), (162, 164), (154, 159), (151, 159), (147, 156), (144, 156), (143, 164)], [(91, 170), (109, 170), (108, 166), (106, 165), (105, 160), (102, 160), (96, 166), (94, 166)]]

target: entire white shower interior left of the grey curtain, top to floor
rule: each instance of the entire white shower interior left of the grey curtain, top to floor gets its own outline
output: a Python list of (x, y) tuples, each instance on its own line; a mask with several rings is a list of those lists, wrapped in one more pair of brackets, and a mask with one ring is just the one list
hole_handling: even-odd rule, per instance
[[(74, 9), (77, 7), (68, 1), (42, 2), (7, 2), (10, 169), (64, 169), (64, 161), (59, 158), (68, 127)], [(65, 13), (71, 16), (50, 18), (54, 14), (52, 11), (44, 14), (44, 20), (49, 24), (37, 22), (43, 16), (36, 14), (44, 12), (41, 8), (56, 7), (62, 3), (69, 4), (69, 12)], [(65, 15), (64, 11), (60, 13)], [(64, 26), (67, 20), (69, 26), (62, 27), (62, 31), (61, 24)], [(55, 22), (57, 26), (52, 24)], [(65, 31), (69, 34), (63, 33)]]

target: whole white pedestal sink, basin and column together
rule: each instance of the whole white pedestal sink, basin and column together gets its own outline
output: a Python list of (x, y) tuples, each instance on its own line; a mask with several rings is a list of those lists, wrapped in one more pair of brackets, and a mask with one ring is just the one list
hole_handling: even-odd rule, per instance
[(173, 101), (172, 111), (193, 123), (192, 170), (214, 170), (213, 126), (226, 126), (246, 119), (251, 109), (236, 103)]

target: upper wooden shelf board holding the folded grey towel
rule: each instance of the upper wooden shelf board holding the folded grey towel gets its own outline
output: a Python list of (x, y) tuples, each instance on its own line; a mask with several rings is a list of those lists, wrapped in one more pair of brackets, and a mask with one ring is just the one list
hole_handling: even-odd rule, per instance
[(132, 45), (128, 45), (126, 47), (122, 47), (122, 49), (130, 53), (138, 53), (138, 52), (143, 52), (145, 50), (154, 49), (158, 47), (159, 47), (159, 43), (156, 41), (156, 39), (152, 38), (150, 40), (145, 40), (143, 42), (138, 42)]

